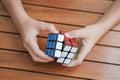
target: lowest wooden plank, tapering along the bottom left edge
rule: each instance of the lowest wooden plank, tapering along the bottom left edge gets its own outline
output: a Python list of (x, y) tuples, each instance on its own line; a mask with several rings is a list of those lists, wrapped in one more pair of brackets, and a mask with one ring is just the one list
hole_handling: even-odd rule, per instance
[(64, 76), (55, 76), (42, 73), (34, 73), (20, 70), (0, 68), (0, 78), (2, 80), (82, 80)]

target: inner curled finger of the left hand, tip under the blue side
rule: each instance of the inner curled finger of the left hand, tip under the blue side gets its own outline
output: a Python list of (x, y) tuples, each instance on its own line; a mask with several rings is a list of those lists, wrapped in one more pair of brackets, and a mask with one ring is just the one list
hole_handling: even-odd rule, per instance
[(39, 46), (37, 44), (37, 39), (36, 39), (36, 36), (34, 37), (30, 37), (29, 38), (29, 41), (26, 42), (27, 44), (27, 47), (31, 50), (31, 52), (41, 58), (41, 59), (44, 59), (44, 60), (53, 60), (53, 58), (47, 56), (44, 52), (42, 52), (40, 49), (39, 49)]

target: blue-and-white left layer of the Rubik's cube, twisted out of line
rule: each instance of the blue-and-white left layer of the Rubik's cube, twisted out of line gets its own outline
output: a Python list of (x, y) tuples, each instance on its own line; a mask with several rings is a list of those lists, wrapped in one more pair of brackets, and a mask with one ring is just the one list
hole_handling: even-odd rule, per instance
[(64, 35), (57, 33), (49, 34), (45, 53), (48, 56), (60, 57), (63, 41)]

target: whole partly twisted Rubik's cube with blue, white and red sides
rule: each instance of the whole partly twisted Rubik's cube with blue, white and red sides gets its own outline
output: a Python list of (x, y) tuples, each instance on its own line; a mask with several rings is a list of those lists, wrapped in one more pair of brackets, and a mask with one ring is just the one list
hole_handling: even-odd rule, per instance
[(56, 62), (70, 64), (78, 51), (75, 38), (67, 38), (64, 32), (48, 34), (45, 53), (56, 58)]

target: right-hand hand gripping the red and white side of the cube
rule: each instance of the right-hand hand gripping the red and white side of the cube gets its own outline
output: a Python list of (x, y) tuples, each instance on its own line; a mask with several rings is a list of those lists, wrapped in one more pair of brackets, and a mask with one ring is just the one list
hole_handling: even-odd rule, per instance
[(81, 48), (80, 53), (78, 54), (77, 58), (74, 59), (69, 65), (63, 64), (67, 67), (73, 67), (82, 63), (84, 58), (93, 48), (95, 43), (100, 39), (100, 37), (106, 31), (101, 29), (99, 25), (89, 25), (85, 28), (73, 30), (70, 32), (66, 32), (65, 35), (69, 38), (83, 38), (84, 43), (83, 47)]

